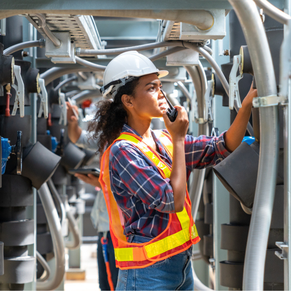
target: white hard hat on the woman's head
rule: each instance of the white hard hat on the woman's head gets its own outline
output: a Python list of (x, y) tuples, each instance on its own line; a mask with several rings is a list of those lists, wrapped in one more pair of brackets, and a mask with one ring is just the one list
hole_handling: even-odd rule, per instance
[(114, 98), (117, 89), (128, 81), (152, 73), (161, 78), (169, 72), (159, 71), (149, 58), (136, 51), (122, 53), (107, 65), (100, 92), (105, 98)]

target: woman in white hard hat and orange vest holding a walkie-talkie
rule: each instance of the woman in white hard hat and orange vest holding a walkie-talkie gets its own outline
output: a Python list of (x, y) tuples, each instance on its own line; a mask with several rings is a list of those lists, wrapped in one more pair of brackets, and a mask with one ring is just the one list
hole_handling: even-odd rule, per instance
[[(113, 101), (99, 103), (91, 124), (120, 268), (116, 290), (193, 290), (191, 250), (200, 239), (186, 182), (194, 168), (214, 166), (242, 142), (256, 96), (251, 88), (227, 132), (193, 137), (183, 107), (175, 106), (173, 122), (166, 114), (159, 80), (166, 74), (138, 52), (120, 54), (100, 89)], [(152, 118), (161, 117), (166, 129), (152, 131)]]

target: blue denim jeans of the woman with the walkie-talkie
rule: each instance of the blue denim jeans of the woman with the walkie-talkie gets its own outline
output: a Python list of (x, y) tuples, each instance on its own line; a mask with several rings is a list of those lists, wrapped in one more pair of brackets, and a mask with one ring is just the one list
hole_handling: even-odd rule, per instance
[[(128, 242), (148, 242), (149, 238), (129, 235)], [(192, 246), (141, 269), (119, 270), (116, 290), (193, 290)]]

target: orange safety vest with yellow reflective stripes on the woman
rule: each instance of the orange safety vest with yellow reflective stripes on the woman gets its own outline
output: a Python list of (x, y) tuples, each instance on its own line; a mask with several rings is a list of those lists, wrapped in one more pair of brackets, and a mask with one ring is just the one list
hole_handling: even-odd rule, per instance
[[(162, 132), (155, 134), (164, 145), (168, 155), (172, 158), (173, 144), (171, 137)], [(142, 139), (131, 133), (121, 133), (114, 141), (127, 140), (143, 152), (155, 166), (164, 179), (169, 178), (171, 168), (160, 158), (159, 154)], [(114, 143), (113, 142), (113, 143)], [(186, 191), (184, 209), (178, 213), (170, 213), (166, 229), (157, 237), (145, 243), (128, 243), (123, 233), (123, 215), (118, 207), (110, 188), (109, 151), (113, 143), (104, 152), (101, 160), (101, 174), (99, 181), (102, 185), (107, 210), (109, 214), (110, 234), (114, 246), (116, 267), (120, 269), (144, 268), (157, 261), (164, 260), (175, 254), (189, 249), (192, 244), (200, 241), (196, 226), (191, 215), (191, 201)], [(191, 234), (191, 235), (190, 235)]]

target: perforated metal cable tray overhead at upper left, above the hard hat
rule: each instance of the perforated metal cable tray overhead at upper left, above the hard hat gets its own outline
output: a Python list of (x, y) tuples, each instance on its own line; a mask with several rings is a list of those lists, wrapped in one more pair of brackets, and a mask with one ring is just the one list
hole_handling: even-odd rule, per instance
[[(76, 47), (82, 49), (102, 49), (95, 21), (88, 15), (45, 14), (47, 26), (51, 31), (67, 31)], [(42, 34), (38, 28), (38, 17), (33, 14), (25, 15), (26, 19)]]

